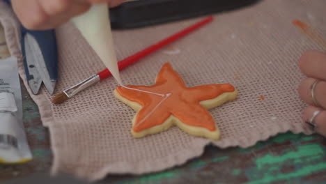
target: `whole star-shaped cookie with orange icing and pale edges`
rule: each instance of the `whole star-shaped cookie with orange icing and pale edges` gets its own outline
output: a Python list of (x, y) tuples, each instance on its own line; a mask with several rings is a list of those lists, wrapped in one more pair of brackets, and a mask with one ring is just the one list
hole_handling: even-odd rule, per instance
[(132, 119), (134, 137), (177, 125), (190, 135), (217, 140), (220, 132), (208, 109), (235, 100), (238, 93), (231, 84), (188, 88), (170, 63), (165, 63), (153, 86), (118, 86), (114, 95), (137, 112)]

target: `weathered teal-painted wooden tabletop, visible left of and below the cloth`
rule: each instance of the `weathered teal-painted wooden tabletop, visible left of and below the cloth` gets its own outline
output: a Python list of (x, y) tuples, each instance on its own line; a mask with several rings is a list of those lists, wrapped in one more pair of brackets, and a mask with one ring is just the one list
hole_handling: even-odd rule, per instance
[[(40, 114), (22, 86), (24, 123), (34, 160), (17, 166), (0, 166), (0, 181), (47, 172), (52, 152), (49, 134)], [(251, 148), (219, 149), (205, 153), (180, 167), (142, 176), (108, 176), (105, 183), (325, 183), (326, 139), (290, 132), (258, 142)]]

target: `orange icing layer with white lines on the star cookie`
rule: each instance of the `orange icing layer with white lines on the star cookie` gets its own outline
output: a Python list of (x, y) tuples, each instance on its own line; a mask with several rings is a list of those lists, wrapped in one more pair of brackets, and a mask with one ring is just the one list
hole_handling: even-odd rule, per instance
[[(214, 119), (208, 110), (201, 106), (199, 102), (217, 98), (225, 92), (235, 91), (235, 88), (231, 84), (208, 84), (187, 88), (183, 79), (173, 70), (169, 63), (164, 64), (153, 86), (127, 87), (131, 89), (119, 86), (117, 88), (118, 93), (123, 98), (137, 102), (142, 106), (137, 113), (133, 127), (134, 132), (141, 132), (153, 128), (156, 125), (162, 125), (171, 115), (187, 125), (215, 131)], [(143, 91), (149, 91), (151, 93), (145, 93)], [(164, 95), (170, 93), (171, 95), (166, 98), (166, 96), (155, 95), (153, 93)], [(157, 107), (159, 103), (160, 105)]]

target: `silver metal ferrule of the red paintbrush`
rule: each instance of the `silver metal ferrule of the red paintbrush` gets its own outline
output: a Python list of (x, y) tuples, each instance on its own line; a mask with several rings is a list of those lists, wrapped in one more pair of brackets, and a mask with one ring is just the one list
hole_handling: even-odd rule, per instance
[(96, 84), (100, 82), (100, 76), (99, 75), (92, 75), (88, 79), (85, 79), (82, 82), (79, 82), (75, 86), (70, 87), (69, 89), (66, 89), (63, 91), (65, 95), (68, 96), (68, 98), (71, 98), (73, 95), (79, 93), (79, 91), (83, 91), (84, 89), (88, 88), (89, 86), (92, 86), (93, 84)]

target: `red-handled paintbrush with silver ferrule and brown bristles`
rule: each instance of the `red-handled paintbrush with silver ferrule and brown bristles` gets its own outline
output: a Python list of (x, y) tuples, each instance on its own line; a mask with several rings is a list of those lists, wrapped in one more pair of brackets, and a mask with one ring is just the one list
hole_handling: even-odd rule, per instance
[[(155, 43), (154, 45), (150, 45), (146, 49), (141, 50), (140, 52), (137, 52), (136, 54), (133, 54), (132, 56), (128, 56), (127, 58), (118, 61), (118, 69), (123, 70), (127, 66), (132, 65), (133, 63), (139, 61), (140, 59), (143, 59), (145, 56), (148, 56), (148, 54), (151, 54), (155, 52), (157, 49), (160, 49), (169, 43), (172, 43), (175, 40), (178, 40), (179, 38), (182, 38), (183, 36), (186, 36), (187, 34), (191, 33), (192, 31), (199, 29), (201, 26), (204, 26), (205, 24), (208, 24), (209, 22), (212, 22), (213, 17), (206, 17), (204, 20), (201, 20), (200, 22), (197, 22), (196, 24), (193, 24), (192, 26), (187, 27), (186, 29), (183, 29), (182, 31), (179, 31), (178, 33), (173, 34), (172, 36), (169, 36), (168, 38), (165, 38), (164, 40), (161, 40), (158, 43)], [(52, 102), (54, 104), (61, 104), (68, 100), (69, 98), (72, 98), (72, 96), (76, 95), (80, 91), (83, 91), (84, 89), (87, 89), (89, 86), (93, 86), (94, 84), (107, 79), (107, 77), (111, 76), (111, 72), (106, 68), (102, 70), (101, 72), (98, 72), (95, 75), (92, 75), (91, 77), (88, 77), (88, 79), (84, 79), (84, 81), (79, 82), (75, 86), (70, 87), (69, 89), (65, 89), (58, 95), (55, 95), (54, 98), (52, 98)]]

